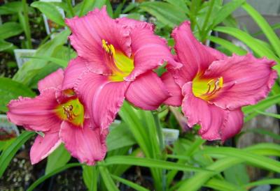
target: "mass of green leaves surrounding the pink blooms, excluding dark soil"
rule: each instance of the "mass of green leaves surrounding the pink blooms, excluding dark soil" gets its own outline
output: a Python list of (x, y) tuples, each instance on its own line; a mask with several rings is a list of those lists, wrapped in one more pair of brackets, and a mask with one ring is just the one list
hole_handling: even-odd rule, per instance
[[(36, 1), (31, 3), (31, 7), (25, 0), (13, 1), (0, 7), (0, 15), (7, 15), (9, 18), (8, 22), (0, 26), (0, 51), (10, 54), (10, 51), (15, 48), (15, 45), (10, 43), (12, 42), (10, 39), (19, 35), (25, 36), (20, 42), (21, 47), (36, 46), (31, 40), (34, 39), (33, 36), (31, 37), (30, 24), (34, 22), (34, 18), (29, 18), (31, 13), (43, 13), (60, 26), (66, 26), (57, 6), (66, 12), (66, 17), (76, 15), (80, 17), (104, 5), (113, 18), (118, 18), (123, 13), (134, 19), (152, 16), (156, 33), (167, 38), (172, 47), (174, 40), (170, 38), (170, 32), (181, 22), (190, 20), (195, 36), (202, 43), (210, 40), (215, 45), (219, 45), (216, 49), (228, 55), (247, 54), (242, 47), (234, 45), (220, 35), (216, 36), (216, 33), (225, 33), (246, 44), (255, 56), (266, 56), (276, 61), (277, 65), (274, 68), (280, 72), (280, 39), (274, 32), (279, 28), (279, 24), (270, 26), (257, 10), (246, 3), (246, 0), (232, 0), (225, 4), (221, 0), (164, 0), (141, 3), (121, 1), (113, 6), (109, 0), (83, 0), (76, 6), (72, 6), (71, 1), (66, 0), (52, 3)], [(232, 13), (240, 7), (252, 17), (261, 31), (251, 34), (239, 29)], [(42, 24), (41, 17), (36, 19), (37, 24)], [(268, 42), (257, 38), (260, 33), (265, 34)], [(36, 88), (40, 79), (57, 68), (66, 68), (70, 59), (77, 56), (70, 45), (65, 45), (69, 34), (69, 29), (65, 29), (52, 40), (48, 40), (50, 37), (48, 36), (36, 49), (36, 54), (29, 56), (29, 61), (18, 70), (13, 79), (0, 78), (0, 112), (7, 112), (6, 104), (12, 99), (17, 99), (18, 96), (34, 97), (36, 94), (30, 88)], [(244, 121), (249, 121), (259, 114), (280, 119), (279, 114), (265, 112), (265, 109), (279, 102), (280, 87), (276, 82), (271, 95), (265, 100), (242, 108), (245, 114)], [(127, 169), (131, 167), (133, 169), (134, 166), (150, 170), (155, 190), (191, 191), (207, 187), (214, 190), (243, 191), (258, 185), (280, 185), (279, 178), (274, 176), (280, 172), (280, 162), (271, 158), (271, 156), (274, 158), (280, 156), (279, 145), (263, 143), (242, 149), (209, 146), (205, 144), (205, 140), (195, 136), (193, 131), (188, 131), (188, 133), (181, 132), (179, 140), (172, 146), (166, 146), (162, 136), (162, 125), (181, 129), (178, 119), (168, 107), (150, 112), (135, 109), (125, 101), (119, 116), (120, 123), (117, 121), (111, 125), (106, 140), (108, 153), (104, 161), (97, 162), (94, 166), (80, 163), (68, 164), (71, 155), (62, 144), (48, 156), (45, 174), (32, 183), (28, 191), (34, 190), (47, 178), (71, 167), (83, 169), (83, 181), (88, 190), (118, 190), (118, 185), (125, 184), (134, 190), (146, 191), (143, 186), (128, 181), (124, 178), (126, 176), (123, 176)], [(246, 133), (258, 133), (275, 140), (280, 139), (279, 135), (266, 130), (265, 127), (244, 130), (240, 135)], [(32, 135), (33, 132), (23, 132), (16, 139), (0, 142), (0, 176), (3, 176), (15, 153)], [(246, 172), (248, 166), (265, 169), (269, 171), (269, 176), (260, 181), (250, 182)], [(179, 172), (183, 176), (178, 176)]]

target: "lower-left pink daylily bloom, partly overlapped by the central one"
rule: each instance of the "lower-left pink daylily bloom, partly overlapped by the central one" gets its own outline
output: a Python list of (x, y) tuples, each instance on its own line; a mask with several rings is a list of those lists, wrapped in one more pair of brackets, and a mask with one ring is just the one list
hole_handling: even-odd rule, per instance
[(43, 132), (31, 147), (31, 163), (35, 164), (50, 155), (62, 142), (80, 162), (94, 165), (106, 155), (106, 130), (91, 128), (87, 108), (73, 89), (62, 91), (62, 69), (53, 72), (40, 82), (40, 95), (36, 98), (19, 98), (8, 104), (8, 119), (27, 130)]

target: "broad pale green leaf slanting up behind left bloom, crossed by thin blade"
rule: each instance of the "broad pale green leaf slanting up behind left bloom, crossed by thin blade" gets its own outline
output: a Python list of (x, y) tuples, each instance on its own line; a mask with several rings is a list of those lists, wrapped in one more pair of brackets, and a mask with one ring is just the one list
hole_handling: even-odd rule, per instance
[[(52, 56), (52, 54), (55, 54), (56, 47), (59, 47), (60, 45), (63, 45), (66, 42), (69, 34), (70, 31), (68, 29), (57, 34), (55, 38), (39, 47), (34, 56)], [(38, 82), (38, 79), (36, 79), (38, 72), (47, 65), (48, 61), (30, 59), (22, 66), (22, 68), (20, 68), (20, 70), (18, 70), (13, 79), (27, 86), (31, 86), (31, 84), (36, 84)]]

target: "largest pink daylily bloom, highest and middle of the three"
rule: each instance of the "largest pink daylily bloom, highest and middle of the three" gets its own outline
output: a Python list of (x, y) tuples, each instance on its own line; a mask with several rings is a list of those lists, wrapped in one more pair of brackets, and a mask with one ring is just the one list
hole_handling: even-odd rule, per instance
[(74, 86), (97, 128), (106, 129), (125, 98), (141, 109), (157, 109), (169, 96), (153, 69), (176, 63), (153, 26), (127, 18), (113, 20), (106, 8), (66, 20), (78, 52), (65, 70), (63, 89)]

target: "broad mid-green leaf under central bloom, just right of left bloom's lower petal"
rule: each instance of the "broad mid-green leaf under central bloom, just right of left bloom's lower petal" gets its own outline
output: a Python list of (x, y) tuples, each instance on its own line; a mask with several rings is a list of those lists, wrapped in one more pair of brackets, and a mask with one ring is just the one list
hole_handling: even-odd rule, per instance
[(120, 123), (117, 127), (111, 128), (106, 141), (107, 151), (136, 144), (134, 137), (125, 123)]

